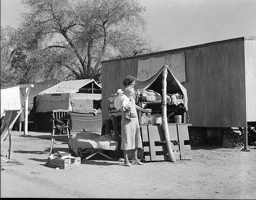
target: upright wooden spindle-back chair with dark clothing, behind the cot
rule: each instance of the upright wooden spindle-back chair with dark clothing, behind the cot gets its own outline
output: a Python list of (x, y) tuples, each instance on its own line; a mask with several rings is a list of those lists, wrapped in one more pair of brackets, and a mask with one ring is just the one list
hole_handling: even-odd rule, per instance
[[(64, 122), (64, 125), (61, 126), (61, 128), (64, 129), (64, 132), (59, 131), (58, 133), (58, 122), (60, 122), (61, 118), (63, 118), (65, 115), (68, 114), (68, 110), (58, 109), (58, 110), (52, 110), (52, 141), (51, 141), (51, 148), (50, 148), (50, 155), (54, 151), (54, 145), (55, 144), (68, 144), (68, 140), (70, 138), (70, 122), (67, 120), (67, 122)], [(67, 142), (55, 142), (55, 137), (67, 137)], [(71, 153), (71, 148), (68, 144), (69, 152)]]

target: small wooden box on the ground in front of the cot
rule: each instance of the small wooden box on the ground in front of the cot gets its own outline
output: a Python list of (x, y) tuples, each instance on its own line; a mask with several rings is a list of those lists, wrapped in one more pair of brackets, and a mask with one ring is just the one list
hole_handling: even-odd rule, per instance
[(47, 162), (49, 167), (59, 167), (60, 169), (71, 169), (75, 167), (79, 167), (81, 164), (81, 158), (66, 158), (66, 159), (58, 159), (58, 158), (48, 158)]

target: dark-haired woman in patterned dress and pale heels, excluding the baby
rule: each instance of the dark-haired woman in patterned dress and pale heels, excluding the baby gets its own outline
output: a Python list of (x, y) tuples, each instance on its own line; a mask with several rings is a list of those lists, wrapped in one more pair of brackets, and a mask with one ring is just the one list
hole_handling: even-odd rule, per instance
[[(135, 80), (132, 76), (125, 77), (123, 81), (124, 87), (134, 88)], [(130, 109), (134, 115), (137, 116), (137, 110), (143, 111), (145, 113), (151, 113), (151, 109), (143, 109), (135, 104), (134, 96), (130, 97), (130, 104), (125, 106), (125, 109)], [(138, 116), (136, 118), (125, 118), (125, 112), (122, 112), (121, 120), (121, 149), (124, 152), (124, 160), (126, 166), (131, 166), (131, 163), (128, 160), (127, 150), (134, 149), (132, 164), (144, 165), (137, 158), (137, 149), (142, 148), (142, 140), (140, 136), (140, 126)]]

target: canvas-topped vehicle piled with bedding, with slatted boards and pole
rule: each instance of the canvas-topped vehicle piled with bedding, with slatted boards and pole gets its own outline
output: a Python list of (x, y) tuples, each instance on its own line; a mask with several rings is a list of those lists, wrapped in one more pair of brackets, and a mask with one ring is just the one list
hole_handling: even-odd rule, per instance
[[(163, 66), (146, 81), (136, 80), (134, 90), (135, 103), (152, 110), (147, 114), (137, 113), (143, 142), (140, 158), (144, 152), (145, 161), (191, 159), (187, 151), (190, 145), (185, 144), (189, 140), (188, 126), (191, 125), (187, 114), (187, 92), (168, 66)], [(102, 135), (111, 131), (121, 134), (122, 110), (116, 110), (114, 106), (117, 97), (118, 94), (113, 94), (108, 99), (109, 117), (103, 121)], [(128, 151), (128, 157), (132, 158), (132, 150)]]

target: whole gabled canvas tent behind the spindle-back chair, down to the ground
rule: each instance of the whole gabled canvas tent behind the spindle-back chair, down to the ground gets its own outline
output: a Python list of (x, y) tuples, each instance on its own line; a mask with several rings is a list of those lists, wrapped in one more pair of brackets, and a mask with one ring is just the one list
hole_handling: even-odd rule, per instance
[[(62, 81), (37, 94), (37, 130), (51, 130), (52, 110), (65, 109), (70, 111), (72, 131), (97, 131), (101, 125), (101, 110), (95, 110), (96, 102), (100, 102), (101, 107), (101, 86), (94, 79)], [(98, 113), (97, 117), (94, 117), (95, 113)], [(91, 126), (86, 123), (91, 123)]]

